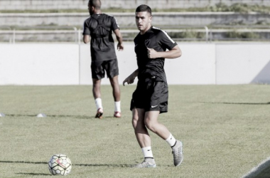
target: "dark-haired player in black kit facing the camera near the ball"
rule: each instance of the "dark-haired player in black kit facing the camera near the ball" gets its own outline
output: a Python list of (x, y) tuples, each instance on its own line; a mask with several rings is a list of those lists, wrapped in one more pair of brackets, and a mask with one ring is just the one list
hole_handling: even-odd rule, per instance
[[(183, 161), (183, 144), (158, 122), (158, 115), (167, 112), (168, 85), (164, 71), (165, 58), (178, 58), (182, 52), (178, 44), (165, 31), (151, 26), (151, 8), (147, 5), (136, 9), (136, 26), (139, 34), (134, 38), (138, 69), (123, 81), (130, 84), (138, 77), (131, 99), (132, 125), (136, 139), (144, 154), (144, 161), (135, 167), (156, 167), (148, 130), (166, 140), (173, 150), (173, 163)], [(168, 51), (166, 51), (168, 49)], [(148, 129), (148, 130), (147, 130)]]

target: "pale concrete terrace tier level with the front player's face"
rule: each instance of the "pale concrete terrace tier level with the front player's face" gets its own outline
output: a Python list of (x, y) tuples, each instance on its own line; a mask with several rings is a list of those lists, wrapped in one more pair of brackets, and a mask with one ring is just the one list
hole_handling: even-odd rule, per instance
[[(134, 13), (109, 13), (113, 15), (120, 28), (136, 28)], [(0, 26), (82, 26), (87, 13), (48, 13), (48, 14), (0, 14)], [(153, 13), (154, 26), (205, 26), (209, 24), (256, 24), (270, 23), (270, 14), (250, 12), (163, 12)]]

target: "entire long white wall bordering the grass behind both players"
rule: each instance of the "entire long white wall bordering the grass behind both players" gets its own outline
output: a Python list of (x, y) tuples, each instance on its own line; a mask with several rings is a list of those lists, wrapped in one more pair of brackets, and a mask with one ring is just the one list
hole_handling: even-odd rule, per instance
[[(124, 45), (119, 83), (136, 70), (134, 44)], [(169, 84), (270, 83), (270, 43), (178, 45), (183, 56), (165, 63)], [(91, 85), (90, 65), (89, 44), (0, 44), (0, 85)]]

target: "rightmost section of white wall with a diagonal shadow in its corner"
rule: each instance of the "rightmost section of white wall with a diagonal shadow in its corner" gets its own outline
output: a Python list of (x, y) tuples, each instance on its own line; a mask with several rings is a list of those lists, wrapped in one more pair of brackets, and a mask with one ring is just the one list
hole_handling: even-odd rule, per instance
[(269, 43), (217, 45), (216, 83), (270, 83), (269, 47)]

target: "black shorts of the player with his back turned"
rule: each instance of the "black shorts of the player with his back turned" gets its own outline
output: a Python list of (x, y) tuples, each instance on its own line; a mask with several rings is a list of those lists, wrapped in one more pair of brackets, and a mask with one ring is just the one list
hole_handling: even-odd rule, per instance
[(102, 79), (105, 76), (105, 70), (108, 78), (119, 75), (117, 58), (109, 61), (92, 61), (92, 78)]

